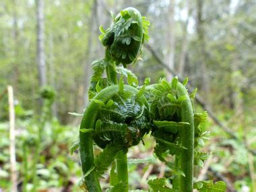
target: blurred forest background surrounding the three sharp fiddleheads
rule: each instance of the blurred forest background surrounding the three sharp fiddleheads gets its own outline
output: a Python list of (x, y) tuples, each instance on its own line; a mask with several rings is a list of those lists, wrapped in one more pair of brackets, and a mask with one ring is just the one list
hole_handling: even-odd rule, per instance
[[(143, 60), (129, 65), (140, 84), (146, 77), (189, 77), (199, 89), (197, 111), (210, 115), (203, 150), (214, 153), (195, 177), (224, 180), (228, 191), (256, 191), (255, 0), (1, 0), (0, 191), (15, 192), (16, 184), (18, 191), (79, 191), (79, 156), (69, 147), (81, 118), (68, 113), (83, 113), (88, 102), (90, 63), (104, 55), (98, 27), (108, 28), (110, 11), (129, 6), (151, 22)], [(16, 167), (9, 160), (8, 85)], [(44, 86), (55, 100), (42, 100)], [(129, 157), (151, 157), (153, 148), (148, 137)], [(129, 171), (131, 189), (147, 189), (146, 180), (164, 171), (168, 177), (156, 160), (131, 163)]]

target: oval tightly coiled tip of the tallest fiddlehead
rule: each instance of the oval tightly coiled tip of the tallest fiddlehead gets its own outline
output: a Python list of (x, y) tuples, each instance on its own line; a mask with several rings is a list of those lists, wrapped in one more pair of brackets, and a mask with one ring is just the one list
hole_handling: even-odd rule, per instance
[(128, 7), (123, 9), (113, 20), (106, 31), (101, 27), (100, 40), (106, 46), (106, 54), (117, 65), (127, 65), (136, 61), (141, 44), (148, 40), (148, 26), (150, 22), (137, 9)]

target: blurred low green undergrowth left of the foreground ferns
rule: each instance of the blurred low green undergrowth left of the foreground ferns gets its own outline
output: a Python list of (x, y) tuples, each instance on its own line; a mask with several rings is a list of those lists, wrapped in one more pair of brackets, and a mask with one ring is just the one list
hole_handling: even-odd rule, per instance
[[(80, 166), (73, 159), (78, 158), (77, 153), (69, 156), (69, 145), (73, 143), (73, 137), (77, 131), (71, 126), (61, 125), (57, 120), (46, 121), (44, 134), (42, 135), (42, 153), (39, 161), (35, 162), (37, 140), (36, 119), (18, 119), (16, 126), (20, 127), (20, 134), (16, 135), (16, 160), (20, 179), (24, 185), (22, 191), (31, 190), (34, 166), (36, 175), (40, 181), (36, 184), (38, 189), (59, 188), (66, 186), (66, 183), (74, 174), (80, 173)], [(1, 169), (0, 187), (9, 191), (9, 125), (0, 123), (0, 133), (3, 136), (0, 144), (0, 161), (4, 164)], [(6, 139), (5, 139), (6, 138)], [(35, 164), (36, 163), (36, 164)], [(8, 175), (6, 174), (8, 173)], [(75, 187), (72, 187), (75, 190)]]

